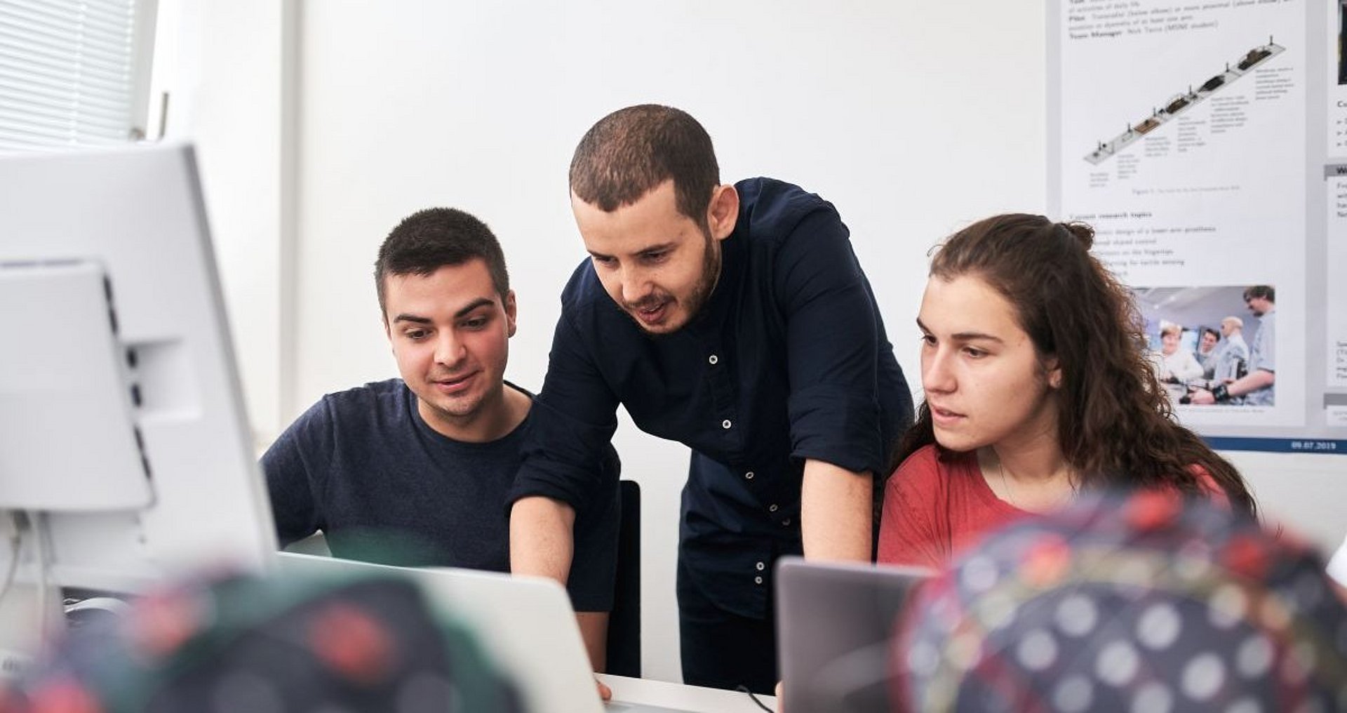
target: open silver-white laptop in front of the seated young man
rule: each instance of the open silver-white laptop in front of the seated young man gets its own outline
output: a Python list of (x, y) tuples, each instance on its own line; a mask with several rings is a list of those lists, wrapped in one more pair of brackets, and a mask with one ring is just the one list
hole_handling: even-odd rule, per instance
[(492, 660), (519, 686), (528, 710), (761, 713), (741, 693), (624, 677), (603, 677), (613, 689), (613, 701), (603, 704), (571, 601), (566, 589), (551, 580), (450, 567), (391, 567), (298, 553), (277, 555), (283, 577), (342, 577), (372, 569), (411, 577), (432, 607), (467, 624)]

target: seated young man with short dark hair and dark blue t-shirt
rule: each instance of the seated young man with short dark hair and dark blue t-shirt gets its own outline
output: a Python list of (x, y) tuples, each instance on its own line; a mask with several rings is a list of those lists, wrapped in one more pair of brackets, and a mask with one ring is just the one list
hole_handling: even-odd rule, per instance
[[(335, 557), (509, 571), (506, 496), (533, 400), (504, 380), (515, 292), (500, 244), (467, 213), (422, 210), (380, 247), (374, 280), (401, 379), (323, 396), (263, 456), (280, 543), (322, 531)], [(603, 469), (617, 477), (614, 452)], [(618, 504), (594, 501), (567, 589), (602, 669)]]

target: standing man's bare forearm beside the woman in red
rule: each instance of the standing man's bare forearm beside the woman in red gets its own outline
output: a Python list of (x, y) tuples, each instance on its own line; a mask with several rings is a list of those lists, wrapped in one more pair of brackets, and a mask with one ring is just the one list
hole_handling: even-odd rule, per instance
[(870, 561), (874, 519), (869, 472), (804, 461), (800, 532), (810, 559)]

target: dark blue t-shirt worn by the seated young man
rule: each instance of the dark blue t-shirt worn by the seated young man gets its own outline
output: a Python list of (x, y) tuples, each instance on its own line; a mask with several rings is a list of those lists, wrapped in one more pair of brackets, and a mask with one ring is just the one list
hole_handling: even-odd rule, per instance
[[(322, 531), (341, 558), (509, 571), (506, 495), (532, 423), (469, 443), (427, 426), (401, 379), (329, 394), (261, 458), (280, 543)], [(602, 468), (617, 478), (614, 452)], [(613, 605), (620, 505), (591, 501), (577, 512), (567, 585), (582, 612)]]

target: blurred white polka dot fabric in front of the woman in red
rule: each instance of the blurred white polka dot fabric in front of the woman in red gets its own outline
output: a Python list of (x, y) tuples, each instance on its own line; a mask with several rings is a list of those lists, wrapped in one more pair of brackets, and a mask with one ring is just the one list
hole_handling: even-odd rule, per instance
[(1013, 523), (897, 627), (909, 710), (1347, 710), (1347, 608), (1320, 555), (1168, 493)]

